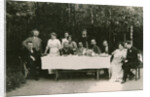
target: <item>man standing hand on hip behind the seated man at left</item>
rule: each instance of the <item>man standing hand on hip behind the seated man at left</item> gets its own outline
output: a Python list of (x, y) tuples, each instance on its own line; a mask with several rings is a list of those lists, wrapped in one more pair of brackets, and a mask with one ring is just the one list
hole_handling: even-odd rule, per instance
[(42, 40), (38, 37), (39, 36), (39, 31), (34, 29), (32, 30), (32, 36), (28, 37), (23, 41), (23, 46), (27, 48), (27, 42), (31, 41), (33, 43), (33, 48), (35, 48), (36, 51), (42, 53)]

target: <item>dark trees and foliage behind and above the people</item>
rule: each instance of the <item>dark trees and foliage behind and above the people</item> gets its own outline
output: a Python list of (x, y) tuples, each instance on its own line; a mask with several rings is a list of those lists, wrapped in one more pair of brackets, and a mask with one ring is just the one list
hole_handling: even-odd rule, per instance
[[(142, 36), (136, 37), (136, 34), (143, 34), (141, 7), (9, 1), (6, 18), (8, 48), (17, 44), (14, 48), (19, 49), (21, 42), (33, 28), (40, 30), (44, 44), (52, 31), (57, 32), (59, 38), (64, 31), (79, 37), (83, 29), (87, 29), (99, 45), (104, 39), (113, 44), (123, 41), (124, 33), (127, 34), (126, 39), (130, 39), (131, 25), (139, 29), (134, 30), (135, 40), (143, 40)], [(142, 49), (141, 47), (142, 44), (138, 46)]]

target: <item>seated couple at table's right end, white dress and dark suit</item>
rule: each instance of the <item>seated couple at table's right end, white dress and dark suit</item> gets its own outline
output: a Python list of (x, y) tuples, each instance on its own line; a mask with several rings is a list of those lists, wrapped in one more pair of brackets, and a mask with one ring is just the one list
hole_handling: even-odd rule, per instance
[(125, 83), (127, 78), (134, 78), (131, 69), (140, 65), (139, 51), (133, 47), (131, 41), (118, 43), (118, 49), (112, 52), (111, 79), (113, 82)]

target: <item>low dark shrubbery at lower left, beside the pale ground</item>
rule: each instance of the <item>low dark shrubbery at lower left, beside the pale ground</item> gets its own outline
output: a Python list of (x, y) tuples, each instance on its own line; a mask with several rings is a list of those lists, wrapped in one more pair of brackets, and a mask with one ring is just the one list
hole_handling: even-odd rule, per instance
[(6, 66), (6, 91), (20, 87), (25, 83), (23, 66), (15, 55), (7, 56)]

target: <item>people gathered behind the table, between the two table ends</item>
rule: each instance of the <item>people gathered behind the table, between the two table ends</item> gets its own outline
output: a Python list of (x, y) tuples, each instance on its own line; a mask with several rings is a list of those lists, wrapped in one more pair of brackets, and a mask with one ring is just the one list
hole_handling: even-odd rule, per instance
[[(108, 46), (107, 41), (105, 41), (106, 46)], [(89, 48), (89, 45), (92, 47)], [(108, 49), (106, 49), (106, 53)], [(48, 53), (49, 51), (49, 53)], [(91, 44), (89, 43), (89, 38), (87, 37), (87, 32), (84, 30), (82, 32), (82, 36), (78, 39), (78, 43), (76, 43), (72, 36), (69, 35), (68, 32), (65, 32), (64, 38), (60, 41), (57, 39), (57, 35), (55, 32), (51, 33), (51, 38), (47, 42), (47, 46), (44, 54), (48, 54), (50, 56), (60, 56), (60, 55), (98, 55), (101, 53), (100, 48), (96, 44), (96, 40), (92, 39)]]

